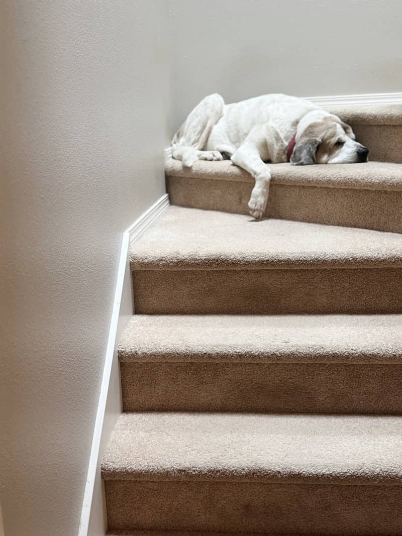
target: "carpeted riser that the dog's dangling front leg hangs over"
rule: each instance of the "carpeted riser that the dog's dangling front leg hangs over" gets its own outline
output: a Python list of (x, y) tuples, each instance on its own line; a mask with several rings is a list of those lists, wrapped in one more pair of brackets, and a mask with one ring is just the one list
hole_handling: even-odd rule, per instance
[[(253, 183), (167, 177), (172, 205), (248, 214)], [(402, 232), (402, 191), (325, 188), (273, 183), (269, 218)]]

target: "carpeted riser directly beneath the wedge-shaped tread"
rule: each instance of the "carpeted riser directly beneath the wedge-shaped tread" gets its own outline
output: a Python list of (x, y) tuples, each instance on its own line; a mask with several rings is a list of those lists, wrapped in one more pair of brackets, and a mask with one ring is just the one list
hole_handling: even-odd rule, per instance
[(137, 314), (402, 312), (402, 269), (139, 270)]

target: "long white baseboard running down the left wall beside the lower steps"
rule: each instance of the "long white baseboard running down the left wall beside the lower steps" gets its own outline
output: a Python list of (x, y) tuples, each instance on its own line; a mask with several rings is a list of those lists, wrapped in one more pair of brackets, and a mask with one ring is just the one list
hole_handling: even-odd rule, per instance
[(129, 266), (130, 245), (142, 235), (145, 229), (168, 206), (169, 196), (166, 193), (126, 229), (122, 236), (113, 310), (98, 408), (96, 410), (78, 536), (104, 536), (107, 528), (100, 464), (103, 449), (122, 411), (117, 346), (124, 327), (133, 313), (133, 296)]

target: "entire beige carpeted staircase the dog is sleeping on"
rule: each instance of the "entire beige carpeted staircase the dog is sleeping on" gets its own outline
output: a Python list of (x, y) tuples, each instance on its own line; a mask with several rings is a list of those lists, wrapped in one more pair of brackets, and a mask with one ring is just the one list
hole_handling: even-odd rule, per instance
[[(402, 106), (333, 110), (377, 161), (167, 163), (131, 251), (110, 534), (402, 534)], [(178, 205), (178, 206), (177, 206)]]

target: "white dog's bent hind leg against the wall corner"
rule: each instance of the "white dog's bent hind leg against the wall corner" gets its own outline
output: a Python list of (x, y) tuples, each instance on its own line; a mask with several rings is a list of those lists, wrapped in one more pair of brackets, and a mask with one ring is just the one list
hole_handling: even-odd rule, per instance
[(215, 124), (224, 115), (225, 101), (218, 93), (208, 95), (189, 114), (172, 140), (172, 157), (191, 167), (196, 160), (222, 160), (219, 151), (205, 151)]

